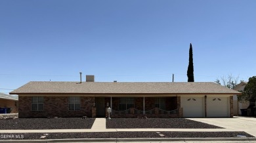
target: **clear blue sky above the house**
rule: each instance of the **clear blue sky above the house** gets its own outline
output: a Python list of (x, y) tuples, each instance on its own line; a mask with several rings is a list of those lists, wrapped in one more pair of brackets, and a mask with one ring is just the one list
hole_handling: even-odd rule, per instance
[(0, 92), (29, 81), (256, 75), (256, 1), (0, 1)]

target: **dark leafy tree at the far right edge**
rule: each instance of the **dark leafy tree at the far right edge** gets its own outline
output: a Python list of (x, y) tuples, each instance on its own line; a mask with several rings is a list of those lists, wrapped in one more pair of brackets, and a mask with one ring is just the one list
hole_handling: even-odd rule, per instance
[(256, 101), (256, 76), (249, 78), (242, 95), (238, 95), (238, 100), (242, 102), (245, 100), (249, 100), (250, 102)]

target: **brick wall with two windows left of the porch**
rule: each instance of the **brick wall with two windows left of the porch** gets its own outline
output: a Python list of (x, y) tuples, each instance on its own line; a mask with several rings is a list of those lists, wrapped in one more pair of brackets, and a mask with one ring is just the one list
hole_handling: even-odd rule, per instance
[(95, 97), (81, 97), (81, 110), (68, 110), (67, 96), (45, 96), (44, 110), (32, 111), (32, 97), (19, 97), (19, 117), (92, 117), (92, 107)]

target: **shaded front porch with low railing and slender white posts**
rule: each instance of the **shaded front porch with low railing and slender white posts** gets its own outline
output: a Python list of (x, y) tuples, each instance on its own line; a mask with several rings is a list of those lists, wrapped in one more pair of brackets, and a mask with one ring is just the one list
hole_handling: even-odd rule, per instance
[(95, 97), (92, 117), (183, 117), (181, 97)]

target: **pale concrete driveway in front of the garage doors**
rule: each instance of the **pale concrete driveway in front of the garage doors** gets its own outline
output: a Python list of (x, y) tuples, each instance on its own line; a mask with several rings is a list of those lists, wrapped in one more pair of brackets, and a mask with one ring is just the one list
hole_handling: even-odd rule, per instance
[(256, 118), (255, 117), (238, 117), (232, 118), (187, 118), (194, 121), (200, 121), (234, 131), (244, 131), (256, 136)]

